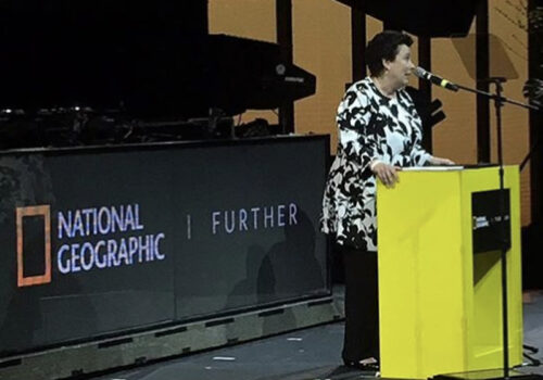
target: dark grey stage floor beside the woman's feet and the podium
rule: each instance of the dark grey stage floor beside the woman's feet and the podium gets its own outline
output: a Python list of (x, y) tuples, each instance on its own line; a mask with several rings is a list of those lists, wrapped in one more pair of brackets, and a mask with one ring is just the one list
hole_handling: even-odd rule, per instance
[[(543, 362), (543, 292), (525, 303), (525, 344)], [(94, 377), (97, 380), (351, 380), (372, 377), (341, 366), (343, 324), (336, 322)], [(523, 372), (543, 375), (543, 366)]]

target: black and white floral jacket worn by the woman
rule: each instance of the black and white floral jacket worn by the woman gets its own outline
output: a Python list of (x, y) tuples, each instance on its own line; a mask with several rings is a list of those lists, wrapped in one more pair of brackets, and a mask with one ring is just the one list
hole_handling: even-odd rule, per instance
[(399, 90), (383, 96), (367, 77), (345, 92), (336, 118), (339, 142), (323, 200), (321, 230), (339, 244), (377, 251), (374, 160), (422, 166), (421, 121), (412, 98)]

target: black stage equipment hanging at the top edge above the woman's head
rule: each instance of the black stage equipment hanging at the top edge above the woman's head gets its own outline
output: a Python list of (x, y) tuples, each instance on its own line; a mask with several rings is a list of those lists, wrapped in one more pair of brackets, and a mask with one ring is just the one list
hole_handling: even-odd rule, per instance
[(394, 29), (424, 37), (460, 37), (469, 28), (481, 0), (338, 0), (383, 21)]

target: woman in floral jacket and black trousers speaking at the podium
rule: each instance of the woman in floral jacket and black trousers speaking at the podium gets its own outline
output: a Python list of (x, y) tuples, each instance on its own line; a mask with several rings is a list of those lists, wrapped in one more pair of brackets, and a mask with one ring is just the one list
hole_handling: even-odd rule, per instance
[(355, 83), (338, 107), (339, 144), (323, 201), (323, 231), (342, 246), (345, 269), (343, 362), (379, 368), (376, 178), (387, 187), (404, 166), (451, 165), (420, 147), (421, 121), (404, 90), (415, 68), (413, 39), (399, 31), (369, 41), (369, 77)]

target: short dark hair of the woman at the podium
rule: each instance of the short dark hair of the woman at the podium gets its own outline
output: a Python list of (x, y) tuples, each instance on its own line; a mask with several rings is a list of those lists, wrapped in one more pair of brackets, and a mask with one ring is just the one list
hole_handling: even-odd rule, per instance
[(366, 47), (366, 65), (371, 76), (380, 76), (384, 72), (382, 60), (394, 61), (399, 47), (413, 45), (413, 38), (396, 30), (384, 30), (374, 36)]

